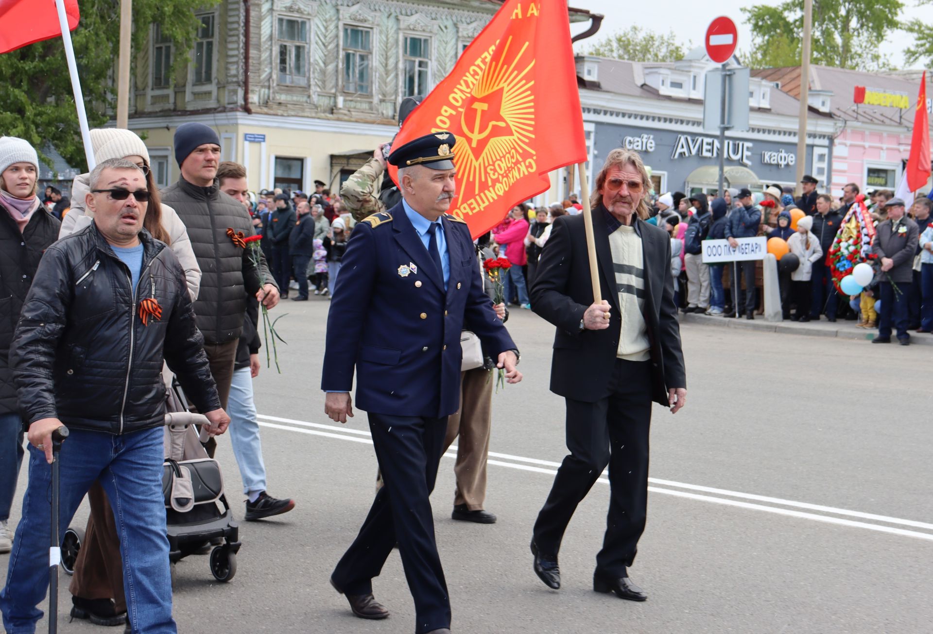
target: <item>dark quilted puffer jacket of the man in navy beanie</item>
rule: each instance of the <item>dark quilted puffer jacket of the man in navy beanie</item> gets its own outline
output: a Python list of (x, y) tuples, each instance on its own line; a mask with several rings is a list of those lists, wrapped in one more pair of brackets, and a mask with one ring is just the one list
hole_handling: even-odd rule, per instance
[(242, 203), (216, 185), (200, 187), (184, 178), (163, 189), (161, 195), (162, 202), (172, 205), (188, 227), (188, 237), (201, 267), (201, 290), (194, 312), (204, 340), (226, 343), (240, 338), (246, 301), (256, 296), (260, 281), (277, 287), (265, 256), (259, 256), (257, 266), (250, 249), (237, 246), (227, 235), (228, 228), (253, 235), (249, 214)]

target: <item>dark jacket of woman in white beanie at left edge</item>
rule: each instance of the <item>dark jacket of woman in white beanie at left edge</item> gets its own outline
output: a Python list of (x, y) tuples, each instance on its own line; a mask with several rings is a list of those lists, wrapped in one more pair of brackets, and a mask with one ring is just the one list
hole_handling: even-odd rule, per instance
[(9, 347), (20, 319), (22, 302), (33, 284), (35, 269), (49, 244), (58, 240), (58, 221), (44, 205), (35, 210), (25, 230), (0, 203), (0, 414), (15, 414), (17, 407)]

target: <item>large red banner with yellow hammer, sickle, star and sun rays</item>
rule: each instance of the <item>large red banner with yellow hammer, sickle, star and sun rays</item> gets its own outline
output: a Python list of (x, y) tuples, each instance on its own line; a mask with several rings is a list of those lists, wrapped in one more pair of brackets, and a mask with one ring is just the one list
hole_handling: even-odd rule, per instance
[(565, 0), (507, 0), (393, 145), (436, 131), (457, 137), (450, 213), (474, 238), (547, 191), (548, 172), (587, 159)]

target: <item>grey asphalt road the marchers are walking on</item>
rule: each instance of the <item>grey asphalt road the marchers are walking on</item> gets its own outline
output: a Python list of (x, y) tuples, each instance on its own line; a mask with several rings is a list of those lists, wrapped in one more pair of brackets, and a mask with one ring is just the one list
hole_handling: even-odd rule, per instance
[[(392, 611), (385, 621), (356, 619), (327, 584), (369, 509), (376, 460), (364, 413), (341, 426), (323, 412), (327, 300), (283, 306), (282, 375), (263, 367), (255, 386), (270, 493), (298, 504), (244, 523), (230, 584), (216, 583), (205, 557), (179, 563), (179, 631), (411, 632), (397, 554), (374, 583)], [(432, 497), (453, 631), (930, 631), (926, 346), (684, 324), (688, 405), (676, 416), (655, 407), (648, 529), (631, 569), (649, 598), (633, 603), (592, 592), (606, 482), (580, 504), (564, 538), (563, 589), (548, 589), (531, 570), (531, 527), (565, 453), (564, 407), (548, 390), (551, 326), (524, 310), (508, 325), (524, 381), (494, 395), (486, 507), (499, 521), (450, 518), (449, 458)], [(242, 515), (228, 440), (217, 457)], [(82, 508), (75, 523), (85, 517)], [(66, 619), (64, 588), (61, 605)], [(75, 622), (60, 631), (99, 628)]]

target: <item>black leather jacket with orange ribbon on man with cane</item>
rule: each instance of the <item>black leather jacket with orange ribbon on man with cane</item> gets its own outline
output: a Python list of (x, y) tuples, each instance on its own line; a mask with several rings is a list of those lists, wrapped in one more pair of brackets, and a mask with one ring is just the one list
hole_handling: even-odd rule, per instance
[[(199, 411), (220, 407), (185, 271), (146, 229), (139, 283), (91, 224), (52, 244), (35, 272), (10, 350), (24, 425), (58, 418), (129, 434), (164, 424), (162, 361)], [(143, 299), (161, 316), (144, 325)]]

